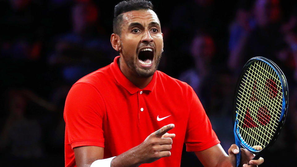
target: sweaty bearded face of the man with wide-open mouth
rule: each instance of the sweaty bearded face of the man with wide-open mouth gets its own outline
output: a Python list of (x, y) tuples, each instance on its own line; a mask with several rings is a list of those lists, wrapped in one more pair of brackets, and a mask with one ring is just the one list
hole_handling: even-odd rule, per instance
[(139, 77), (152, 76), (163, 49), (163, 34), (156, 13), (152, 10), (123, 13), (120, 39), (121, 70)]

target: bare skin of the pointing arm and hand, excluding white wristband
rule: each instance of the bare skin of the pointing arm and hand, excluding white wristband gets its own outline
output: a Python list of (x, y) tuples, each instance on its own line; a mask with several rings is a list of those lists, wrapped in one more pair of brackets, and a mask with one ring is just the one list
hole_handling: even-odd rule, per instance
[[(174, 128), (174, 124), (163, 126), (150, 134), (140, 145), (116, 156), (111, 161), (111, 167), (135, 167), (144, 163), (151, 163), (171, 155), (172, 139), (175, 134), (167, 131)], [(89, 167), (94, 161), (103, 159), (104, 148), (83, 146), (74, 148), (77, 167)]]

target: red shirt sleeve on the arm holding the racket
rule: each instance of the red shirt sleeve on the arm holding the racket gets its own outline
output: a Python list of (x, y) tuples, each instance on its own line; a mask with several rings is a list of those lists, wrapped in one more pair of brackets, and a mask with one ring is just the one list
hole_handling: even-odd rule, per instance
[(188, 152), (202, 151), (220, 143), (220, 141), (217, 139), (217, 135), (212, 129), (209, 118), (192, 88), (189, 95), (191, 107), (185, 143)]

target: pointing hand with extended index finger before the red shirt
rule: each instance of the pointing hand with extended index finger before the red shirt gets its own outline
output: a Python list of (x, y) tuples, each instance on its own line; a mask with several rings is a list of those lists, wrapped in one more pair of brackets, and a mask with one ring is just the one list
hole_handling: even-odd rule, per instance
[(150, 134), (140, 145), (136, 146), (135, 154), (139, 156), (140, 164), (151, 163), (171, 155), (172, 139), (175, 137), (175, 134), (167, 132), (173, 128), (174, 124), (163, 126)]

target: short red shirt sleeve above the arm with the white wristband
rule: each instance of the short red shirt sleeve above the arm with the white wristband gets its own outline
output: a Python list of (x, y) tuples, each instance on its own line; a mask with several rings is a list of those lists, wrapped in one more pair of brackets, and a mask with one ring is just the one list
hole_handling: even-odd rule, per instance
[(64, 119), (71, 148), (104, 147), (102, 130), (105, 105), (100, 93), (88, 83), (75, 83), (64, 108)]

